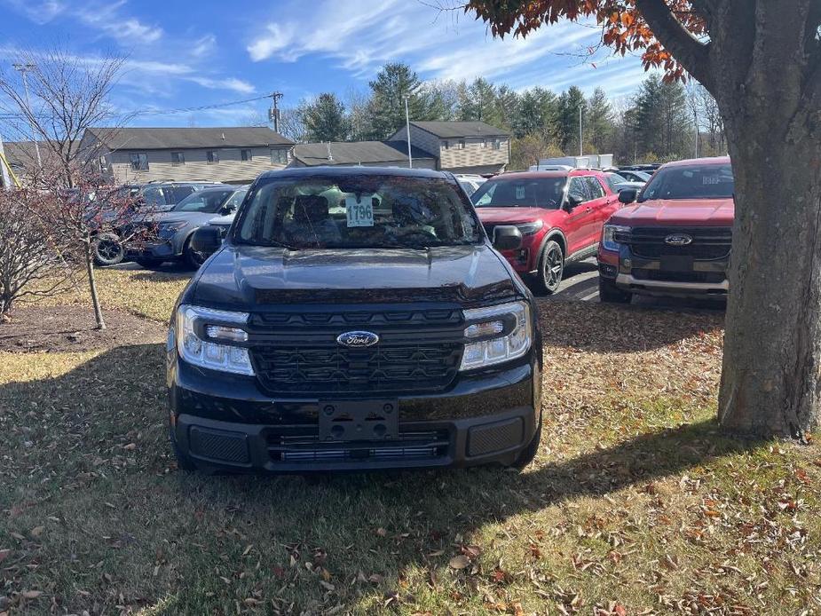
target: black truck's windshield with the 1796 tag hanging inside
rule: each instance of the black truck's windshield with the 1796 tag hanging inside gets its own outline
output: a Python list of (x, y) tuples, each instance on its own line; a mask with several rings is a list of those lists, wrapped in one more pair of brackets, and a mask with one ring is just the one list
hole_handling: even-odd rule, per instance
[(253, 189), (233, 241), (290, 249), (421, 249), (484, 241), (463, 199), (438, 178), (272, 178)]

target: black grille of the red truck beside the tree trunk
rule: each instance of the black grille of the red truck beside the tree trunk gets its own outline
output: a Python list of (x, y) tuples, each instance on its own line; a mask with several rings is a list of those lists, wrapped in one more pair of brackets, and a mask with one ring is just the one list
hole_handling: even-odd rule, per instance
[[(686, 234), (692, 238), (686, 246), (671, 246), (665, 238)], [(730, 256), (732, 230), (730, 227), (634, 227), (627, 233), (616, 233), (615, 240), (628, 244), (635, 257), (693, 257), (697, 261), (712, 261)]]

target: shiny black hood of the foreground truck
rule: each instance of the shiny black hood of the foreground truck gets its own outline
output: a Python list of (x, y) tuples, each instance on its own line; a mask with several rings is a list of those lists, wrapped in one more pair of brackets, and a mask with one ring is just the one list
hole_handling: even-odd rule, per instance
[(306, 249), (225, 245), (184, 301), (231, 310), (290, 303), (480, 302), (517, 295), (507, 264), (487, 245)]

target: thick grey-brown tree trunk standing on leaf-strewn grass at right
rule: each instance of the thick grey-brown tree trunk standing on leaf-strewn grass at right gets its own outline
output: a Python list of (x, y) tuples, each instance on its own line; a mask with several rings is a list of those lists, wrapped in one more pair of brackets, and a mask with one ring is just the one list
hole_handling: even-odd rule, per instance
[(714, 40), (716, 58), (745, 69), (714, 81), (736, 180), (718, 414), (754, 436), (802, 438), (821, 420), (821, 73), (802, 43), (807, 11), (758, 4), (752, 30)]

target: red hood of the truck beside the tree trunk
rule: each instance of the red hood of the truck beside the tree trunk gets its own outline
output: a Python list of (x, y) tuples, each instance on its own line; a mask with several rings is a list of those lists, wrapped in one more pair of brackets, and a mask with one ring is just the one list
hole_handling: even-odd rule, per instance
[(618, 209), (613, 225), (732, 225), (732, 199), (656, 199)]

